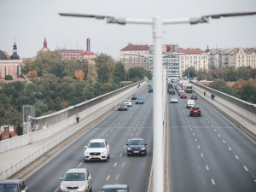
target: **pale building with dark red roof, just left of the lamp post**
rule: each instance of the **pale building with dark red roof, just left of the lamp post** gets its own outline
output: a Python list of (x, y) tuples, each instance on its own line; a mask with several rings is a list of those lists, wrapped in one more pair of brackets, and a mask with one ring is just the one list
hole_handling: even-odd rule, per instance
[(149, 46), (128, 44), (119, 51), (119, 59), (128, 71), (132, 67), (143, 67), (149, 70)]

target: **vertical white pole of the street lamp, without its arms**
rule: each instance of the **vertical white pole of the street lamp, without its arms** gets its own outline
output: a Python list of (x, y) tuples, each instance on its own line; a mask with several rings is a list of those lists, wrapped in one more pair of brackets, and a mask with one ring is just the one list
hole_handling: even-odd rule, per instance
[(153, 189), (154, 192), (164, 192), (164, 154), (163, 154), (163, 96), (162, 96), (162, 27), (160, 16), (153, 18), (153, 127), (154, 127), (154, 154), (153, 154)]

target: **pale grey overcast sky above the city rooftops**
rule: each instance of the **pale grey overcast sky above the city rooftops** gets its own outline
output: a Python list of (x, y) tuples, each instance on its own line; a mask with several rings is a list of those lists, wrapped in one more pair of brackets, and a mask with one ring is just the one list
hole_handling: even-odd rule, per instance
[[(16, 41), (20, 58), (48, 48), (86, 49), (119, 60), (119, 50), (131, 44), (153, 44), (152, 26), (106, 24), (106, 20), (61, 17), (60, 12), (113, 15), (125, 18), (189, 18), (256, 11), (255, 0), (0, 0), (0, 49), (12, 55)], [(256, 47), (256, 15), (210, 20), (208, 24), (165, 25), (163, 44), (181, 48)], [(16, 39), (16, 40), (15, 40)]]

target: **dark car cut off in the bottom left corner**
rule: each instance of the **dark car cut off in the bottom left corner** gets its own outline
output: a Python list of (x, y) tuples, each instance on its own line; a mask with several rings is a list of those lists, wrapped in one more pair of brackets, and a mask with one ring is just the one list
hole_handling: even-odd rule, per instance
[(0, 191), (28, 192), (28, 187), (21, 179), (0, 181)]

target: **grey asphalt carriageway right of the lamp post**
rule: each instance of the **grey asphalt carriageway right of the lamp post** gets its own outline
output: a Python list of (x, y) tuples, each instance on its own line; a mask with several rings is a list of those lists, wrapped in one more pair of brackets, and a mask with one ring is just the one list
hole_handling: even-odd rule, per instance
[(170, 191), (256, 191), (255, 143), (200, 98), (189, 117), (186, 101), (169, 103)]

